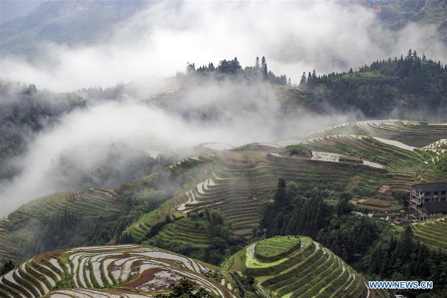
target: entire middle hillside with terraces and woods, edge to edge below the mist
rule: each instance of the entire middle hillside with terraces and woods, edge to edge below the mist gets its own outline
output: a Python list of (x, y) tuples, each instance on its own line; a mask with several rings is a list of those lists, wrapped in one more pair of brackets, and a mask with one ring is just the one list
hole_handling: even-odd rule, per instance
[[(363, 121), (310, 133), (305, 141), (255, 143), (188, 157), (116, 190), (54, 194), (24, 205), (0, 221), (0, 256), (22, 261), (52, 249), (115, 243), (123, 232), (141, 241), (166, 215), (179, 218), (205, 208), (221, 212), (237, 235), (250, 235), (278, 177), (328, 193), (347, 190), (359, 203), (387, 203), (362, 205), (372, 212), (399, 210), (396, 193), (415, 182), (447, 179), (446, 135), (446, 124)], [(205, 248), (203, 228), (197, 232), (201, 226), (201, 220), (181, 219), (156, 238)]]

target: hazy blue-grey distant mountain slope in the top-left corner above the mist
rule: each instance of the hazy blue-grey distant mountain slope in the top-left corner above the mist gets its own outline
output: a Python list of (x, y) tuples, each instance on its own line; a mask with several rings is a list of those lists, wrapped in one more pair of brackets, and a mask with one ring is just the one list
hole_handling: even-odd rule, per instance
[(1, 55), (34, 59), (42, 40), (95, 44), (146, 5), (145, 1), (46, 1), (26, 16), (1, 24)]

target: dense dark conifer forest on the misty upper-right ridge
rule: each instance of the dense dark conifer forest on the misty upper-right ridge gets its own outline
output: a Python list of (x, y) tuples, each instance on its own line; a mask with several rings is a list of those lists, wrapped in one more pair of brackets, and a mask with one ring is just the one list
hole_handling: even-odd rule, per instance
[[(303, 73), (299, 88), (322, 110), (361, 111), (367, 117), (446, 119), (447, 65), (416, 50), (377, 60), (359, 71), (316, 75)], [(331, 108), (328, 108), (330, 106)], [(405, 117), (409, 115), (409, 117)]]

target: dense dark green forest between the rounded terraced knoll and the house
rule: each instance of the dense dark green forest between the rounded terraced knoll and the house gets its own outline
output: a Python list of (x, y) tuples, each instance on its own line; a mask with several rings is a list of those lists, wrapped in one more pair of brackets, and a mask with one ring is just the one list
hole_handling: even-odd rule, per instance
[[(327, 203), (328, 193), (298, 182), (286, 184), (280, 178), (275, 201), (264, 209), (260, 228), (267, 228), (268, 236), (313, 237), (370, 280), (431, 280), (437, 287), (424, 295), (446, 296), (446, 253), (416, 242), (410, 225), (398, 232), (386, 222), (349, 215), (354, 208), (350, 192), (337, 193), (336, 204)], [(402, 293), (415, 297), (424, 292)]]

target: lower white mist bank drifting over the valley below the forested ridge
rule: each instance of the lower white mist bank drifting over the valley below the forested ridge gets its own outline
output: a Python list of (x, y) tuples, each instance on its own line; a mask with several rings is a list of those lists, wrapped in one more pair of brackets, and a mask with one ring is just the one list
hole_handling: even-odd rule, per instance
[(52, 175), (54, 163), (61, 156), (76, 161), (72, 170), (88, 172), (114, 144), (126, 144), (121, 149), (125, 160), (136, 150), (167, 152), (202, 143), (240, 146), (299, 138), (355, 117), (299, 112), (285, 115), (277, 94), (263, 81), (208, 81), (182, 94), (178, 105), (170, 108), (138, 101), (108, 102), (66, 114), (58, 125), (38, 134), (24, 156), (14, 160), (22, 171), (2, 185), (1, 215), (39, 196), (75, 190), (64, 189), (65, 184), (60, 183), (74, 178), (71, 175), (76, 173), (70, 168), (62, 178)]

